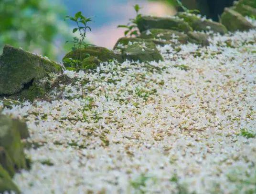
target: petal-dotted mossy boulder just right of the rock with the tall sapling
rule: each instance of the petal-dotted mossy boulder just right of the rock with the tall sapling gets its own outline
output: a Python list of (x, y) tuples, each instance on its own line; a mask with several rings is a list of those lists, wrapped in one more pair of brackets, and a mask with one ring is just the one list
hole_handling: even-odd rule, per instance
[(120, 50), (124, 60), (129, 61), (162, 61), (163, 58), (154, 42), (141, 38), (121, 38), (114, 49)]

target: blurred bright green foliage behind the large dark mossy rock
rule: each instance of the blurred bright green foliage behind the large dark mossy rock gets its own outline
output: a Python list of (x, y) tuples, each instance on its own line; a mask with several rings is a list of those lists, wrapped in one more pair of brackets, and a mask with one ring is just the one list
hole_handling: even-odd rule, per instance
[(64, 15), (57, 0), (0, 0), (0, 51), (11, 44), (56, 59), (64, 49), (58, 38), (69, 36)]

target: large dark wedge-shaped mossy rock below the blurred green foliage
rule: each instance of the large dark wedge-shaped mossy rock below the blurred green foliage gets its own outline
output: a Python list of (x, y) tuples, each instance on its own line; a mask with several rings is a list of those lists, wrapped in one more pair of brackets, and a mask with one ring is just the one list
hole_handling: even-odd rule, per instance
[(26, 84), (61, 71), (53, 61), (6, 45), (0, 56), (0, 95), (19, 93)]

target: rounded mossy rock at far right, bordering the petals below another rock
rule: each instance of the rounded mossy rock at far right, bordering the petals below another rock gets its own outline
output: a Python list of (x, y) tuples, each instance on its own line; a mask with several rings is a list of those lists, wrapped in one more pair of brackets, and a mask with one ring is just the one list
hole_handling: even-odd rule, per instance
[(229, 8), (225, 8), (221, 15), (221, 22), (229, 31), (248, 31), (255, 28), (244, 16)]

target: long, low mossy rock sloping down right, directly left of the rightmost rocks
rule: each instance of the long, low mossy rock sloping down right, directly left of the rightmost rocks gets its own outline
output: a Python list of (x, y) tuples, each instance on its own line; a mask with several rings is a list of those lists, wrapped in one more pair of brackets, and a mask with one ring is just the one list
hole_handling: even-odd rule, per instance
[(220, 34), (227, 33), (227, 29), (223, 24), (202, 19), (193, 13), (178, 12), (177, 16), (189, 23), (194, 31), (213, 31)]

